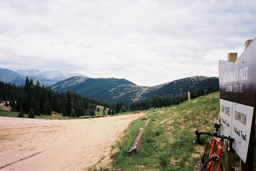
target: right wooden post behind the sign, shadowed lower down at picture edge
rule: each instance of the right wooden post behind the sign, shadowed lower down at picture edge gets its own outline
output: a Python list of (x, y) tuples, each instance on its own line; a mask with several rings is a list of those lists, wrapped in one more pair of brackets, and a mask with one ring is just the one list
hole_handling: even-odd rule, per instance
[[(247, 40), (244, 43), (244, 50), (249, 46), (251, 42), (252, 40)], [(252, 115), (251, 133), (250, 133), (250, 140), (249, 140), (249, 146), (248, 146), (248, 152), (247, 152), (247, 159), (246, 159), (246, 163), (244, 163), (244, 161), (240, 159), (240, 165), (239, 165), (240, 171), (253, 170), (254, 139), (255, 139), (255, 108), (253, 110), (253, 115)]]

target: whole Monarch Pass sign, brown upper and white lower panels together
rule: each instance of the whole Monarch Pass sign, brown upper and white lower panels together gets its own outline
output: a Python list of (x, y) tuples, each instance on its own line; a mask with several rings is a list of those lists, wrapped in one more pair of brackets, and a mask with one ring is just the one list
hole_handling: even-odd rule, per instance
[(234, 138), (233, 149), (247, 167), (243, 169), (242, 166), (240, 170), (253, 170), (255, 65), (255, 39), (236, 62), (219, 61), (221, 134)]

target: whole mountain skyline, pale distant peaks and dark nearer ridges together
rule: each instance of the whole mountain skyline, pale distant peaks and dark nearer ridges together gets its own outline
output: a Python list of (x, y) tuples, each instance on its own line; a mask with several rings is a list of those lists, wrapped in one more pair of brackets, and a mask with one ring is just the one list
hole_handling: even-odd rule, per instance
[(41, 72), (36, 69), (17, 70), (0, 68), (0, 81), (25, 85), (26, 76), (32, 78), (34, 84), (39, 80), (40, 85), (51, 86), (58, 92), (72, 92), (106, 102), (123, 101), (125, 103), (150, 99), (154, 95), (180, 96), (190, 92), (197, 92), (199, 88), (219, 90), (219, 78), (195, 76), (153, 87), (139, 86), (125, 79), (116, 78), (89, 78), (81, 74), (65, 73), (59, 70)]

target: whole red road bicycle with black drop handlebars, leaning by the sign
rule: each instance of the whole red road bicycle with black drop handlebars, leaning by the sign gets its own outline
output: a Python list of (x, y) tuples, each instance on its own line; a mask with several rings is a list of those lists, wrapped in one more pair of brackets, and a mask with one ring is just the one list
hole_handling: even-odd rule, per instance
[(224, 139), (227, 139), (228, 141), (228, 151), (231, 151), (232, 153), (234, 153), (234, 150), (232, 148), (234, 139), (231, 138), (230, 136), (224, 136), (224, 135), (218, 134), (221, 124), (214, 122), (214, 125), (216, 130), (214, 131), (213, 134), (208, 132), (199, 132), (198, 130), (195, 130), (196, 135), (195, 135), (194, 142), (196, 141), (196, 138), (197, 138), (198, 143), (201, 145), (203, 143), (200, 141), (200, 135), (203, 134), (203, 135), (209, 135), (214, 137), (212, 141), (208, 142), (203, 156), (198, 161), (198, 164), (200, 166), (200, 171), (212, 171), (212, 170), (223, 171), (223, 166), (221, 164), (221, 154), (222, 154)]

